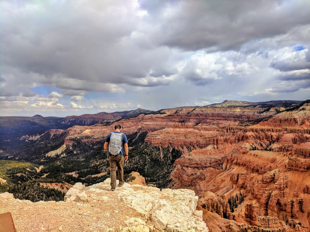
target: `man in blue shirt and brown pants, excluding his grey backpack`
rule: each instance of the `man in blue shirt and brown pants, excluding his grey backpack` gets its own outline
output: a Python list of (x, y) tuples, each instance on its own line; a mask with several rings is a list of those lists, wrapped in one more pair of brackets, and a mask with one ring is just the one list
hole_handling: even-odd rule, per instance
[[(121, 148), (118, 154), (111, 154), (109, 149), (109, 162), (110, 162), (110, 178), (111, 178), (111, 191), (115, 191), (116, 187), (116, 170), (118, 171), (118, 179), (119, 184), (118, 187), (121, 187), (124, 185), (124, 161), (126, 162), (128, 160), (128, 140), (125, 134), (121, 133), (122, 127), (120, 125), (115, 125), (114, 132), (108, 134), (107, 138), (105, 139), (105, 143), (103, 146), (104, 151), (107, 150), (108, 145), (110, 143), (111, 135), (113, 133), (119, 133), (122, 135), (122, 144)], [(115, 135), (113, 135), (114, 138)], [(110, 148), (109, 146), (109, 148)]]

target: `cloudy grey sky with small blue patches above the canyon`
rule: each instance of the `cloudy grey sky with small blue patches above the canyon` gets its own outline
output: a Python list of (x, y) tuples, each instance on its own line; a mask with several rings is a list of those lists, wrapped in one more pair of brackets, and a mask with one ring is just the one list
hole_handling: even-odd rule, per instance
[(310, 99), (309, 0), (1, 0), (0, 116)]

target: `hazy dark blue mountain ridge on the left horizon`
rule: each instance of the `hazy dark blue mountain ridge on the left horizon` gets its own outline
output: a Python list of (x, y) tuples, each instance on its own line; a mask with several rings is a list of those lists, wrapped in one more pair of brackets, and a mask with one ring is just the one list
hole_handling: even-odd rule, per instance
[[(36, 114), (26, 116), (0, 116), (0, 148), (18, 148), (32, 136), (42, 135), (51, 129), (66, 130), (73, 126), (92, 126), (97, 123), (108, 125), (123, 118), (134, 118), (140, 114), (155, 113), (152, 110), (128, 110), (121, 112), (71, 115), (66, 117), (42, 117)], [(25, 137), (26, 136), (26, 137)]]

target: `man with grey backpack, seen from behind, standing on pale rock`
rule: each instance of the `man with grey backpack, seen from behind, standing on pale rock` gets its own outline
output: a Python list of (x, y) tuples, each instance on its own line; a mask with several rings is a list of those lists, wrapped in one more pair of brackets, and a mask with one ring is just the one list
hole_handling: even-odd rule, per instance
[(116, 170), (119, 179), (118, 187), (124, 185), (123, 166), (124, 161), (128, 160), (128, 140), (121, 129), (120, 125), (115, 125), (114, 132), (108, 134), (103, 146), (104, 151), (107, 151), (107, 148), (109, 150), (111, 191), (116, 187)]

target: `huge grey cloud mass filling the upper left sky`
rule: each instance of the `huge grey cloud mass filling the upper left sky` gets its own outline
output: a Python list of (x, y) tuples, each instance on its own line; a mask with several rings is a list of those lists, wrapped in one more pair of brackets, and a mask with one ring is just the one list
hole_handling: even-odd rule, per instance
[(16, 14), (12, 5), (6, 6), (9, 20), (2, 22), (5, 36), (0, 42), (8, 66), (44, 75), (45, 82), (62, 75), (94, 84), (133, 86), (166, 85), (167, 81), (144, 78), (178, 72), (169, 61), (169, 49), (145, 46), (149, 38), (135, 34), (140, 18), (131, 2), (123, 1), (123, 6), (100, 1), (94, 6), (71, 1), (30, 3), (17, 4), (26, 9)]

